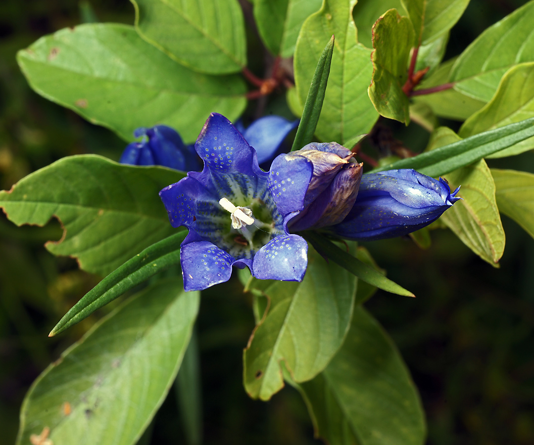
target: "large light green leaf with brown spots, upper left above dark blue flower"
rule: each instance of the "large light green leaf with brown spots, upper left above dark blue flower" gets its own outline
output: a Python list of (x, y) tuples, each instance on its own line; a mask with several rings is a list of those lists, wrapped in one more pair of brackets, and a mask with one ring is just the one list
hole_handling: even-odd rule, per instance
[(32, 88), (124, 140), (141, 126), (174, 127), (189, 144), (209, 113), (230, 120), (246, 106), (238, 75), (195, 73), (125, 25), (82, 25), (40, 38), (17, 54)]

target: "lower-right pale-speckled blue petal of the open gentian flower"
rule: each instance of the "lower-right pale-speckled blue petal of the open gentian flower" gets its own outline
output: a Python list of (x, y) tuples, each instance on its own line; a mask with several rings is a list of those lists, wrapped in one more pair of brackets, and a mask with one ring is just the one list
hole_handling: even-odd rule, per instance
[(260, 280), (301, 281), (308, 266), (308, 243), (299, 235), (279, 235), (256, 252), (252, 274)]

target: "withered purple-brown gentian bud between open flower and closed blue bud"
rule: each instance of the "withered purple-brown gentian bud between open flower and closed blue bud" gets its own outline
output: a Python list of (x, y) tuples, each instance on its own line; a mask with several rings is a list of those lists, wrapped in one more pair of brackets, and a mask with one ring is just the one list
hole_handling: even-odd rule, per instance
[[(291, 176), (296, 170), (308, 169), (310, 172), (302, 210), (290, 219), (290, 231), (331, 226), (347, 216), (356, 201), (362, 179), (362, 164), (353, 156), (354, 153), (336, 142), (312, 142), (273, 161), (271, 173), (276, 171), (281, 177)], [(277, 195), (282, 195), (277, 190), (280, 185), (274, 177), (270, 181), (274, 186), (271, 193), (276, 200)], [(282, 191), (285, 189), (281, 188)]]

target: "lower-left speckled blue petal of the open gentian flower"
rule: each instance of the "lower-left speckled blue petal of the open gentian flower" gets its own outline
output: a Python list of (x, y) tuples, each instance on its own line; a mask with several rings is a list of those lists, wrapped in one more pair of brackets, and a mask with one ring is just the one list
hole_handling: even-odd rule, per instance
[(202, 290), (223, 283), (232, 275), (234, 258), (209, 241), (196, 241), (182, 245), (180, 263), (184, 276), (184, 289)]

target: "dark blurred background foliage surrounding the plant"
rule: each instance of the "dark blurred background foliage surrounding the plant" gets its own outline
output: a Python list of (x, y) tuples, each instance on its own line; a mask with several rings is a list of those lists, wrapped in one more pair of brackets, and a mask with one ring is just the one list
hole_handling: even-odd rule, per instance
[[(445, 60), (523, 3), (472, 0), (451, 31)], [(113, 133), (29, 89), (15, 52), (67, 26), (97, 19), (131, 24), (133, 17), (126, 0), (0, 3), (1, 188), (9, 189), (29, 172), (67, 155), (119, 157), (124, 143)], [(255, 32), (247, 29), (249, 42), (255, 42), (248, 49), (252, 69), (269, 57), (259, 48)], [(249, 107), (257, 108), (249, 114), (261, 114), (267, 107), (289, 116), (282, 102), (276, 97), (252, 102)], [(459, 128), (454, 121), (440, 123)], [(414, 152), (427, 145), (425, 130), (387, 125), (392, 138)], [(534, 154), (488, 160), (488, 165), (534, 173)], [(388, 330), (412, 372), (431, 445), (534, 443), (534, 240), (506, 217), (503, 224), (507, 243), (500, 269), (484, 263), (449, 231), (432, 231), (428, 250), (409, 239), (365, 244), (390, 279), (417, 296), (379, 292), (366, 307)], [(116, 303), (64, 335), (47, 337), (60, 316), (98, 282), (79, 271), (74, 260), (53, 257), (44, 249), (45, 240), (60, 236), (56, 221), (15, 230), (0, 216), (0, 428), (5, 443), (14, 441), (29, 385)], [(242, 387), (235, 366), (254, 318), (252, 297), (239, 292), (239, 286), (232, 281), (208, 289), (201, 302), (197, 328), (204, 443), (319, 443), (310, 439), (308, 414), (295, 390), (285, 388), (264, 403), (249, 399)], [(156, 415), (152, 431), (152, 443), (158, 444), (176, 443), (183, 436), (174, 392)]]

